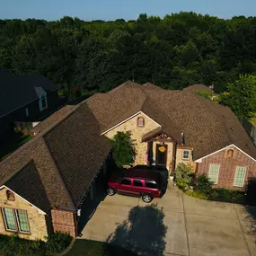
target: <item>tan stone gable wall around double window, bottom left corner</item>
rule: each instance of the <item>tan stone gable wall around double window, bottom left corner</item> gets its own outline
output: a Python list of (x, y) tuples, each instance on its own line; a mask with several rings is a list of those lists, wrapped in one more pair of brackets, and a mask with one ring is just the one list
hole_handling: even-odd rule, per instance
[(6, 189), (0, 190), (0, 234), (13, 234), (13, 232), (6, 231), (4, 225), (4, 216), (2, 212), (2, 207), (9, 207), (15, 209), (22, 209), (27, 211), (31, 234), (19, 234), (20, 237), (31, 240), (45, 240), (48, 236), (48, 228), (46, 222), (46, 215), (40, 213), (38, 208), (33, 207), (30, 203), (15, 195), (15, 200), (10, 201), (6, 198)]

